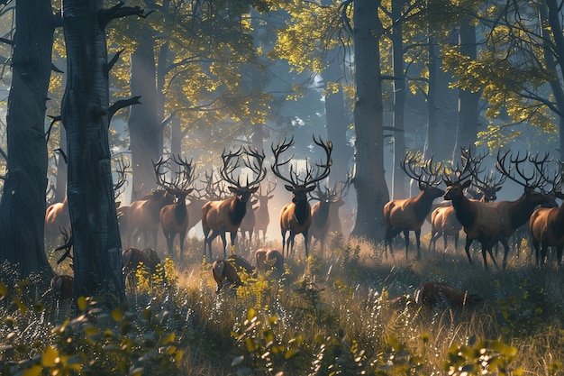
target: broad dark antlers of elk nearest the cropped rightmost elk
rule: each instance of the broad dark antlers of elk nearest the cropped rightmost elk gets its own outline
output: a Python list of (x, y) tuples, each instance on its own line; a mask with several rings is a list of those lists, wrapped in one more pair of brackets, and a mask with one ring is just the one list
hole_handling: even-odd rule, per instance
[[(544, 170), (544, 163), (548, 160), (548, 153), (544, 156), (542, 160), (538, 160), (538, 154), (534, 158), (530, 154), (525, 154), (523, 158), (520, 158), (520, 153), (517, 152), (517, 155), (514, 157), (511, 154), (509, 158), (510, 167), (509, 170), (505, 167), (505, 162), (507, 159), (507, 155), (510, 155), (510, 151), (505, 151), (502, 155), (501, 151), (497, 151), (497, 158), (496, 158), (496, 170), (499, 173), (504, 174), (507, 178), (512, 179), (515, 183), (519, 184), (524, 188), (541, 188), (542, 187), (542, 179), (543, 179), (543, 170)], [(529, 160), (535, 166), (535, 170), (532, 170), (531, 175), (525, 175), (525, 172), (519, 168), (521, 163), (525, 160)], [(514, 176), (514, 171), (517, 172), (517, 175), (521, 177), (521, 179), (517, 179)], [(538, 172), (538, 173), (537, 173)]]

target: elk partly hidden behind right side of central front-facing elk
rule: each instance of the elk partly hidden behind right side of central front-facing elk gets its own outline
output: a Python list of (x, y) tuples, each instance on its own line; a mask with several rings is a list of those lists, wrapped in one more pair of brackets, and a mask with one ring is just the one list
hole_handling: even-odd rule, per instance
[(321, 252), (325, 252), (325, 239), (329, 234), (331, 226), (331, 207), (342, 201), (342, 197), (347, 196), (350, 187), (350, 176), (347, 181), (336, 182), (332, 188), (325, 185), (325, 189), (317, 184), (317, 189), (311, 193), (313, 200), (317, 202), (312, 206), (312, 225), (309, 227), (309, 234), (321, 243)]

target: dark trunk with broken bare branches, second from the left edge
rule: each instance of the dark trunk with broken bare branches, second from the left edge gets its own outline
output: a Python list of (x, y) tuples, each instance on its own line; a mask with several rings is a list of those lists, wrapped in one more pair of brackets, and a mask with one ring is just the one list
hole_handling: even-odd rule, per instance
[(67, 130), (68, 208), (73, 236), (75, 297), (124, 298), (108, 141), (109, 86), (102, 0), (64, 0), (67, 87), (61, 117)]

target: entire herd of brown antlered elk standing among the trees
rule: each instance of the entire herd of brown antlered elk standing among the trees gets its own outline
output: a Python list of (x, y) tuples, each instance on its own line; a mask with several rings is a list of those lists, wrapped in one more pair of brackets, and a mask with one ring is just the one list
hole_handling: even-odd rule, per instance
[[(214, 261), (212, 271), (217, 282), (217, 291), (223, 285), (238, 284), (241, 270), (252, 273), (284, 269), (284, 257), (294, 253), (296, 235), (304, 239), (305, 257), (309, 256), (310, 241), (319, 243), (322, 254), (326, 252), (326, 239), (331, 228), (340, 229), (332, 223), (332, 212), (342, 205), (350, 188), (351, 178), (329, 183), (332, 167), (332, 142), (313, 138), (314, 148), (322, 151), (323, 158), (305, 163), (298, 169), (294, 155), (284, 155), (294, 146), (294, 138), (273, 143), (274, 161), (267, 168), (264, 151), (241, 146), (229, 151), (223, 150), (222, 164), (218, 170), (206, 170), (204, 178), (196, 172), (196, 164), (179, 155), (161, 157), (153, 161), (155, 186), (144, 197), (135, 199), (130, 205), (117, 206), (118, 223), (122, 236), (123, 273), (128, 276), (134, 289), (132, 273), (143, 265), (154, 272), (160, 264), (157, 252), (158, 234), (166, 240), (168, 257), (183, 261), (186, 234), (201, 221), (204, 234), (203, 255)], [(464, 149), (457, 163), (423, 160), (407, 152), (400, 167), (408, 178), (413, 179), (420, 189), (416, 197), (393, 199), (383, 207), (383, 221), (386, 225), (384, 252), (393, 256), (395, 238), (405, 238), (405, 258), (410, 246), (409, 233), (415, 235), (416, 257), (421, 258), (421, 232), (424, 221), (431, 223), (429, 249), (436, 250), (436, 242), (443, 238), (447, 248), (447, 236), (454, 238), (458, 247), (459, 234), (466, 234), (464, 245), (468, 261), (472, 262), (470, 245), (477, 241), (481, 249), (484, 267), (490, 260), (496, 265), (493, 249), (498, 243), (504, 247), (502, 266), (505, 269), (510, 248), (510, 239), (515, 234), (530, 236), (530, 243), (541, 265), (549, 257), (549, 247), (556, 248), (556, 259), (561, 262), (564, 247), (564, 209), (556, 199), (564, 199), (562, 163), (549, 159), (548, 154), (540, 157), (526, 153), (499, 151), (494, 164), (495, 170), (487, 170), (485, 155), (474, 156)], [(118, 172), (120, 182), (115, 190), (123, 187), (126, 165)], [(267, 179), (268, 173), (272, 179)], [(498, 201), (496, 193), (509, 179), (523, 188), (523, 194), (514, 201)], [(282, 240), (281, 252), (261, 249), (252, 256), (254, 267), (244, 259), (238, 259), (234, 251), (238, 247), (237, 236), (241, 232), (242, 247), (249, 249), (255, 235), (256, 243), (266, 246), (266, 232), (270, 222), (268, 202), (274, 195), (277, 181), (284, 182), (290, 193), (289, 202), (279, 215)], [(444, 184), (446, 187), (441, 188)], [(117, 195), (115, 195), (117, 197)], [(439, 204), (437, 199), (443, 200)], [(312, 205), (310, 202), (315, 201)], [(339, 222), (339, 221), (336, 221)], [(68, 239), (70, 222), (68, 206), (62, 203), (48, 207), (45, 215), (46, 246), (55, 248), (59, 235)], [(230, 251), (227, 252), (226, 233), (230, 234)], [(214, 257), (214, 239), (221, 240), (221, 257)], [(178, 239), (176, 256), (175, 239)], [(520, 243), (520, 242), (518, 242)], [(141, 249), (137, 249), (141, 245)], [(128, 248), (126, 248), (128, 247)], [(68, 244), (63, 247), (68, 250)], [(194, 250), (190, 250), (193, 252)], [(223, 252), (222, 252), (223, 251)], [(239, 256), (241, 257), (241, 256)], [(53, 280), (53, 286), (63, 289), (68, 280)], [(68, 291), (65, 290), (68, 295)]]

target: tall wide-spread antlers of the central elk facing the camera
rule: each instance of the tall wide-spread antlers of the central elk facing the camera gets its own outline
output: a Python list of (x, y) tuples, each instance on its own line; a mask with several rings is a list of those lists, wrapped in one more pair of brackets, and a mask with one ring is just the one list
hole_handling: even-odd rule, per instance
[[(290, 156), (290, 158), (288, 158), (285, 161), (279, 161), (280, 158), (280, 154), (282, 154), (284, 151), (287, 151), (290, 146), (292, 146), (294, 144), (294, 136), (292, 136), (292, 138), (290, 139), (289, 142), (286, 141), (286, 139), (284, 140), (284, 142), (277, 142), (277, 146), (274, 146), (274, 143), (272, 143), (272, 152), (274, 153), (274, 164), (272, 164), (272, 172), (274, 172), (274, 175), (277, 176), (277, 178), (282, 179), (284, 181), (286, 181), (287, 183), (290, 183), (292, 185), (292, 187), (296, 187), (299, 185), (302, 186), (312, 186), (314, 184), (316, 184), (318, 181), (321, 181), (325, 178), (327, 178), (327, 176), (329, 176), (329, 172), (331, 171), (331, 165), (332, 165), (332, 159), (331, 159), (331, 152), (332, 152), (332, 142), (331, 141), (327, 141), (324, 142), (322, 140), (322, 138), (320, 137), (319, 140), (315, 139), (315, 135), (314, 135), (314, 142), (315, 144), (317, 144), (318, 146), (321, 146), (323, 148), (323, 151), (325, 151), (325, 155), (327, 157), (327, 160), (325, 162), (320, 162), (320, 163), (315, 163), (314, 166), (310, 165), (308, 163), (308, 161), (306, 160), (305, 162), (305, 178), (304, 179), (299, 179), (299, 173), (294, 169), (294, 165), (290, 164), (290, 178), (288, 179), (287, 177), (285, 177), (284, 175), (282, 175), (282, 173), (280, 172), (280, 166), (284, 166), (285, 164), (289, 163), (290, 160), (292, 160), (293, 155)], [(315, 171), (314, 171), (315, 170)], [(315, 175), (314, 175), (315, 172)]]

